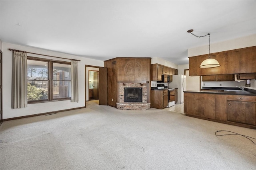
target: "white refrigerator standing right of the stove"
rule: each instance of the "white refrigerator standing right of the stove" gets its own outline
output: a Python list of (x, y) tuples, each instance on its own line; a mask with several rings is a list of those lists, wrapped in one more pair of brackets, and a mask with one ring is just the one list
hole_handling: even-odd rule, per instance
[(182, 74), (173, 75), (172, 82), (168, 84), (168, 88), (178, 88), (178, 104), (184, 102), (184, 91), (186, 90), (186, 76)]

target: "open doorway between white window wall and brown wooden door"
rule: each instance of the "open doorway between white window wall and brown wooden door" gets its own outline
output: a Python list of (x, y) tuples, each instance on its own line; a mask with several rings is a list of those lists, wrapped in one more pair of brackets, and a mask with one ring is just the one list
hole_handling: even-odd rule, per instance
[(99, 85), (99, 71), (98, 70), (89, 70), (89, 101), (98, 100), (98, 85)]

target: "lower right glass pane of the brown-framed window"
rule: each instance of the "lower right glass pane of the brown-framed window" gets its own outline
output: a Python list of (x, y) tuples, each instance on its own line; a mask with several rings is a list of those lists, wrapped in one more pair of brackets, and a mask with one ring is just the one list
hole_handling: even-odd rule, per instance
[(71, 82), (70, 81), (53, 81), (53, 98), (70, 98)]

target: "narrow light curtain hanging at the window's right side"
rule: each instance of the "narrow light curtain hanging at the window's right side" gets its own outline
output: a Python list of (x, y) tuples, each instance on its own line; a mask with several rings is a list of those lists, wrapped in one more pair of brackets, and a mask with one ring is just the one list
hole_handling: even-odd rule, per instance
[(71, 102), (78, 102), (78, 61), (71, 61)]

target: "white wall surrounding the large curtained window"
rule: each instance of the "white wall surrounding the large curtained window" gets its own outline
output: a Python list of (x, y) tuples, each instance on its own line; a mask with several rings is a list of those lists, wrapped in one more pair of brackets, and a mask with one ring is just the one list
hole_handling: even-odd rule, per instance
[[(98, 61), (94, 59), (88, 59), (84, 57), (78, 57), (74, 55), (68, 55), (64, 53), (57, 53), (52, 51), (46, 51), (42, 49), (36, 49), (32, 47), (24, 47), (20, 45), (14, 45), (10, 43), (2, 43), (3, 51), (3, 119), (8, 119), (12, 117), (20, 117), (26, 115), (34, 115), (39, 113), (46, 113), (51, 111), (58, 111), (64, 109), (71, 109), (76, 107), (85, 106), (85, 65), (93, 66), (104, 66), (103, 61)], [(39, 53), (44, 55), (52, 55), (56, 57), (64, 57), (68, 59), (81, 60), (78, 62), (78, 88), (79, 88), (79, 102), (70, 102), (70, 100), (56, 101), (56, 102), (46, 102), (40, 104), (28, 104), (28, 107), (22, 109), (12, 109), (11, 108), (11, 86), (12, 86), (12, 51), (8, 49), (17, 49), (21, 51), (28, 51), (32, 53)], [(56, 59), (52, 57), (46, 57), (41, 55), (33, 55), (28, 53), (28, 56), (41, 57), (46, 59), (70, 61), (65, 59)]]

